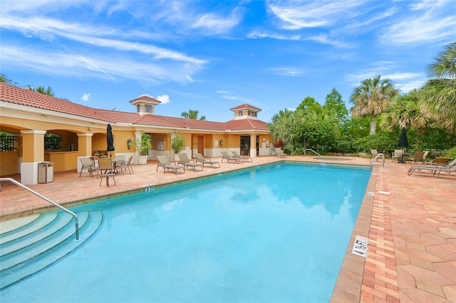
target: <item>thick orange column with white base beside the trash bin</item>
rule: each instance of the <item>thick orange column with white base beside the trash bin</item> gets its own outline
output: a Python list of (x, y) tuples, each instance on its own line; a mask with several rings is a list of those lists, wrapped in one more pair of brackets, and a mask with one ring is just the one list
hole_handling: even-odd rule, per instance
[(44, 161), (45, 130), (21, 130), (21, 184), (38, 184), (38, 163)]

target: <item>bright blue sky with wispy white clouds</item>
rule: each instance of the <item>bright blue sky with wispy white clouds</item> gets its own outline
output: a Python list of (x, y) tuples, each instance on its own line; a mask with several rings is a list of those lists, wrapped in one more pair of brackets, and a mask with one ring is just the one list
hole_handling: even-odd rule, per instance
[(56, 97), (156, 115), (233, 119), (247, 103), (270, 122), (361, 80), (402, 92), (456, 40), (456, 1), (0, 1), (1, 73)]

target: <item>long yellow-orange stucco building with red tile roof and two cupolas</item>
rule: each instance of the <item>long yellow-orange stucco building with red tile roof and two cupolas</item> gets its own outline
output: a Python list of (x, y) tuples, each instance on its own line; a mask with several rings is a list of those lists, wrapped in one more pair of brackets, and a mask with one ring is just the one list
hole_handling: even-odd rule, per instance
[[(130, 142), (142, 133), (152, 137), (149, 159), (166, 155), (172, 159), (171, 137), (185, 137), (185, 151), (192, 158), (222, 156), (220, 151), (237, 151), (250, 156), (269, 155), (269, 129), (258, 119), (261, 109), (239, 105), (231, 110), (234, 119), (211, 122), (155, 115), (159, 100), (138, 97), (130, 103), (135, 112), (120, 112), (86, 107), (0, 83), (0, 176), (21, 174), (23, 184), (38, 183), (38, 163), (50, 161), (53, 171), (79, 171), (80, 157), (135, 156)], [(228, 109), (227, 109), (228, 110)], [(113, 128), (115, 151), (108, 154), (106, 129)], [(51, 135), (50, 135), (51, 134)]]

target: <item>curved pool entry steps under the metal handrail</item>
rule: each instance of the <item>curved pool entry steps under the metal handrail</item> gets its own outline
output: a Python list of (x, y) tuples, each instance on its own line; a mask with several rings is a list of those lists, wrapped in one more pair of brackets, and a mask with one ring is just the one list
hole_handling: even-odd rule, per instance
[(78, 213), (80, 240), (74, 239), (73, 216), (44, 213), (0, 238), (0, 289), (48, 267), (82, 245), (103, 220), (100, 211)]

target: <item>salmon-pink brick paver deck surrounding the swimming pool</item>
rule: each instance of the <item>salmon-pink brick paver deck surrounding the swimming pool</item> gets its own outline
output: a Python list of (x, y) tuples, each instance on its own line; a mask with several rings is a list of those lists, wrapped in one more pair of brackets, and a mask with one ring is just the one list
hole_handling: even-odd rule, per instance
[[(219, 174), (276, 161), (369, 165), (369, 159), (314, 156), (272, 156), (254, 162), (227, 164), (185, 174), (158, 172), (156, 161), (133, 165), (134, 174), (115, 176), (116, 184), (100, 187), (100, 179), (76, 171), (58, 172), (53, 182), (28, 186), (65, 206), (121, 196), (176, 181)], [(347, 160), (348, 159), (348, 160)], [(221, 158), (213, 159), (221, 161)], [(346, 250), (331, 302), (454, 302), (456, 303), (456, 174), (433, 177), (428, 171), (407, 171), (412, 164), (385, 160), (375, 163), (358, 220)], [(19, 180), (19, 175), (9, 176)], [(9, 182), (1, 182), (0, 220), (10, 220), (50, 209), (49, 203)], [(351, 252), (356, 235), (369, 239), (367, 257)]]

